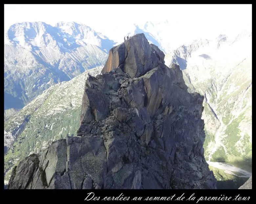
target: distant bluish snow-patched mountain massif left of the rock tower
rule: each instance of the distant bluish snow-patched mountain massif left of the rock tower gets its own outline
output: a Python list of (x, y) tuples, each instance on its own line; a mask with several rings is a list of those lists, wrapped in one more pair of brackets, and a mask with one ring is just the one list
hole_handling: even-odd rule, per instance
[(17, 23), (5, 32), (5, 110), (23, 108), (44, 90), (103, 65), (114, 42), (86, 25)]

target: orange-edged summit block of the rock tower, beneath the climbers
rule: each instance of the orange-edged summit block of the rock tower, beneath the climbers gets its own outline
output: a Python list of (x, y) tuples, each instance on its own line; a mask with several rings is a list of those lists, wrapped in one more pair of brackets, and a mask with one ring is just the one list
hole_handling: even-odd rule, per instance
[(102, 73), (120, 68), (134, 78), (160, 63), (164, 63), (164, 53), (156, 45), (149, 44), (144, 34), (136, 34), (109, 51)]

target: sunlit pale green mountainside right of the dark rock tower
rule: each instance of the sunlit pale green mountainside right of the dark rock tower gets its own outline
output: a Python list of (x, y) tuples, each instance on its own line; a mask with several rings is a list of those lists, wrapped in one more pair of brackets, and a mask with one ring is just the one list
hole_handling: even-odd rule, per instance
[(235, 38), (195, 41), (167, 54), (166, 62), (180, 64), (190, 91), (204, 95), (205, 158), (247, 171), (252, 150), (251, 40), (251, 31), (245, 30)]

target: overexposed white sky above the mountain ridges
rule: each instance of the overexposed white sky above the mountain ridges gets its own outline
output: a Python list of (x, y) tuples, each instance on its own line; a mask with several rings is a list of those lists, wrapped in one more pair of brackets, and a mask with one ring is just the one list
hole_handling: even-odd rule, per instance
[(252, 5), (4, 5), (5, 30), (14, 23), (42, 21), (55, 25), (60, 21), (74, 21), (88, 25), (110, 39), (122, 40), (134, 23), (166, 20), (170, 37), (177, 41), (210, 39), (251, 24)]

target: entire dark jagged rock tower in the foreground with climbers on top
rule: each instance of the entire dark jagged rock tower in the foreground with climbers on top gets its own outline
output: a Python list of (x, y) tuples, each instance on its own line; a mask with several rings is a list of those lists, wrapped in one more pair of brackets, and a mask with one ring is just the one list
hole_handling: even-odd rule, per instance
[(216, 188), (203, 156), (203, 96), (163, 59), (144, 34), (112, 48), (103, 74), (86, 81), (77, 136), (21, 161), (8, 188)]

